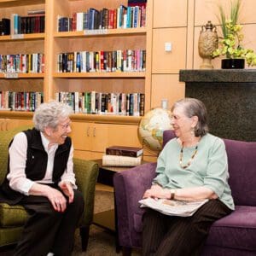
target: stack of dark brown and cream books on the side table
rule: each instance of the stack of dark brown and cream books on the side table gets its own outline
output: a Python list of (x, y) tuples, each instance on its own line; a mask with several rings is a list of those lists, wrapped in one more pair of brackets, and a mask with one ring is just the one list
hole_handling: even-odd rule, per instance
[(143, 148), (112, 146), (106, 148), (102, 156), (103, 166), (139, 166), (142, 162)]

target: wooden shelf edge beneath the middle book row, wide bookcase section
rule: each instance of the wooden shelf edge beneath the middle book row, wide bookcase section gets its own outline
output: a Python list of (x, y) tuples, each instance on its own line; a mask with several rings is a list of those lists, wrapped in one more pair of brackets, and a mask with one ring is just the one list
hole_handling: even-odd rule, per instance
[(54, 78), (145, 78), (145, 72), (93, 72), (93, 73), (53, 73)]

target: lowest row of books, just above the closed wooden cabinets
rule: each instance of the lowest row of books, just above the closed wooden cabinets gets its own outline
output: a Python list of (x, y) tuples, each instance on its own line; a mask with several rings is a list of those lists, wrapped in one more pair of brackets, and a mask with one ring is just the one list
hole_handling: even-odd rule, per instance
[(142, 93), (57, 92), (55, 100), (67, 103), (74, 113), (143, 116), (145, 96)]

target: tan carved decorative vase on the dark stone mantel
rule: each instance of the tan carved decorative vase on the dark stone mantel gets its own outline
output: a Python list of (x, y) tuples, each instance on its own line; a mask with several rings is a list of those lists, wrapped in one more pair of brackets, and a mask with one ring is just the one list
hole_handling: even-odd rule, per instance
[(212, 52), (218, 48), (218, 34), (216, 26), (211, 21), (206, 26), (201, 26), (201, 32), (198, 40), (198, 52), (202, 58), (200, 68), (210, 69), (212, 66)]

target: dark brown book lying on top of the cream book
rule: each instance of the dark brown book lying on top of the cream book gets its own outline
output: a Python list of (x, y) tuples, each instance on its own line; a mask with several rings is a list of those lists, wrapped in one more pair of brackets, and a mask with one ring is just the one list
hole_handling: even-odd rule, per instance
[(138, 157), (143, 154), (143, 148), (112, 146), (106, 148), (106, 154)]

